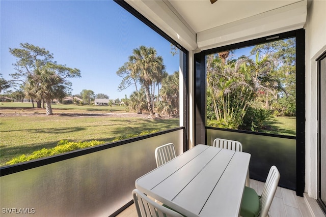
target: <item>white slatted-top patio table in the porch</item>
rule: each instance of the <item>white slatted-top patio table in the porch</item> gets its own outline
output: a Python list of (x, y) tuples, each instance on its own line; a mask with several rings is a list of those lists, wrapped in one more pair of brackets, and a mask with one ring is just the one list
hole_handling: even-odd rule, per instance
[(135, 181), (135, 187), (191, 216), (238, 216), (250, 154), (196, 145)]

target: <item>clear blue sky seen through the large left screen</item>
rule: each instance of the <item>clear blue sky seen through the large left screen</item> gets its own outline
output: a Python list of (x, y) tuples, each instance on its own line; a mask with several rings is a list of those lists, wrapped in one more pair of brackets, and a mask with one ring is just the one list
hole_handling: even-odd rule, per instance
[(134, 88), (119, 92), (116, 72), (140, 45), (154, 47), (166, 71), (179, 70), (179, 56), (170, 42), (113, 1), (1, 1), (0, 73), (7, 80), (16, 58), (9, 48), (20, 43), (44, 47), (58, 64), (77, 68), (82, 78), (71, 79), (72, 94), (91, 89), (110, 99), (129, 97)]

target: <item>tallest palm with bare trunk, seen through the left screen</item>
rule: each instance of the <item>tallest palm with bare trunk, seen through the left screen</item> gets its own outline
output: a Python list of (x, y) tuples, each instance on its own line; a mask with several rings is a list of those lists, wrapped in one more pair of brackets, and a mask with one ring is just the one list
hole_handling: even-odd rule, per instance
[(139, 75), (139, 81), (146, 93), (147, 109), (150, 117), (154, 117), (150, 87), (158, 75), (162, 74), (165, 70), (163, 58), (157, 56), (154, 48), (140, 46), (139, 48), (133, 49), (133, 54), (129, 56), (129, 63), (131, 76), (138, 77), (137, 75)]

